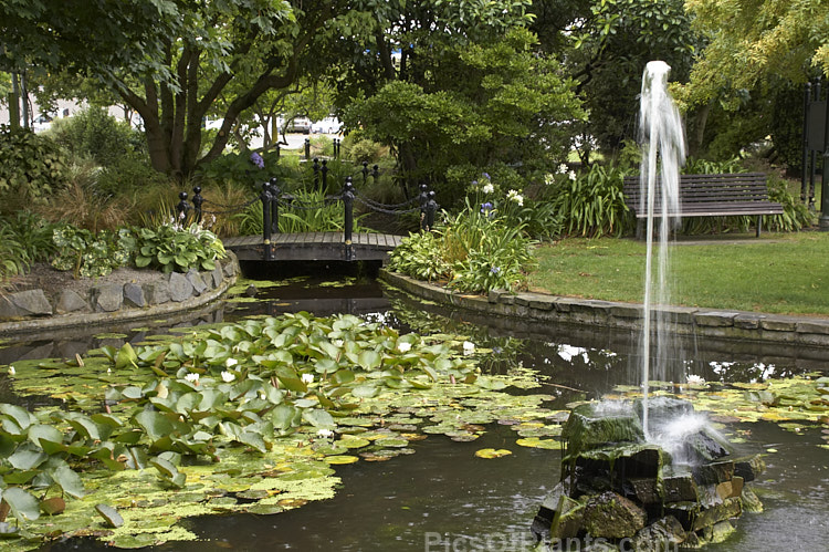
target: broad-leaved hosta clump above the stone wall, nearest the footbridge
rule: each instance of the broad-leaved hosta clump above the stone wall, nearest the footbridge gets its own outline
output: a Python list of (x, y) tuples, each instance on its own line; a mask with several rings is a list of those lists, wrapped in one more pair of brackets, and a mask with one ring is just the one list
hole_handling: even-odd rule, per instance
[(198, 225), (139, 228), (135, 230), (135, 251), (136, 267), (151, 267), (165, 273), (187, 272), (191, 268), (213, 270), (216, 259), (224, 257), (221, 240)]

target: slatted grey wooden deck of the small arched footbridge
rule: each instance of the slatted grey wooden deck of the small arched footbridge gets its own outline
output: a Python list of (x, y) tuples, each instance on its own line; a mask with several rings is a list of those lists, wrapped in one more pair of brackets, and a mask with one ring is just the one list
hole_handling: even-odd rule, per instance
[[(271, 260), (274, 261), (386, 261), (403, 236), (355, 233), (345, 243), (343, 232), (274, 233)], [(240, 261), (261, 261), (265, 253), (262, 236), (225, 238), (224, 248)]]

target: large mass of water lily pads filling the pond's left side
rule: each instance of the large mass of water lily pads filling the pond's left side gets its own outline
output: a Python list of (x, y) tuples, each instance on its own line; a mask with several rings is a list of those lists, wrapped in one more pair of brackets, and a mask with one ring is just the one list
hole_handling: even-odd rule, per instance
[(18, 395), (62, 404), (0, 405), (0, 531), (19, 550), (193, 539), (179, 520), (328, 498), (334, 466), (412, 454), (429, 434), (470, 441), (501, 420), (526, 446), (557, 446), (560, 426), (536, 420), (554, 397), (502, 393), (537, 383), (482, 374), (475, 353), (489, 351), (463, 336), (298, 313), (15, 362)]

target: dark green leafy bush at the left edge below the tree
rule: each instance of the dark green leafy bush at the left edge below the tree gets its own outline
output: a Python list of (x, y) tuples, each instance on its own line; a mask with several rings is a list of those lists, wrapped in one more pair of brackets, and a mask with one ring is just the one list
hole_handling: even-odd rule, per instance
[(0, 125), (0, 212), (42, 202), (63, 184), (59, 148), (27, 129)]

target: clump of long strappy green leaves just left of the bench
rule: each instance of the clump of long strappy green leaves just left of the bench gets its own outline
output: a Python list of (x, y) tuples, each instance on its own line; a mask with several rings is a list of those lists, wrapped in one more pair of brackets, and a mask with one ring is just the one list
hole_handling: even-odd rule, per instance
[(586, 174), (550, 178), (545, 198), (562, 213), (567, 235), (618, 237), (632, 225), (622, 177), (613, 166), (594, 164)]

